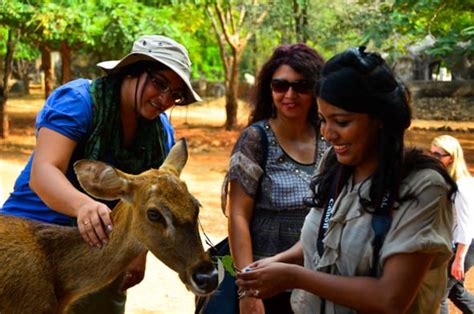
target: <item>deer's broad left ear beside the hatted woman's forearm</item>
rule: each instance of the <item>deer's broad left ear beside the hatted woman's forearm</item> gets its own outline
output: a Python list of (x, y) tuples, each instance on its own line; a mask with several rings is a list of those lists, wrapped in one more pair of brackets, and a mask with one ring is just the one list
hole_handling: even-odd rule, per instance
[(79, 160), (74, 171), (82, 188), (90, 195), (103, 200), (129, 199), (130, 175), (97, 160)]

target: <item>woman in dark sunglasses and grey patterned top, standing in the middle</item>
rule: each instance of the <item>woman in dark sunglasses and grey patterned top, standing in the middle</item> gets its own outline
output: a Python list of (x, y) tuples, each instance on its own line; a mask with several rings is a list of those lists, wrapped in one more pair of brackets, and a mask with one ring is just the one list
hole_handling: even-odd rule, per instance
[[(316, 93), (323, 58), (305, 44), (275, 49), (255, 86), (254, 110), (229, 166), (229, 242), (237, 268), (295, 244), (304, 199), (327, 148), (318, 128)], [(292, 313), (291, 291), (272, 298), (240, 294), (240, 313)]]

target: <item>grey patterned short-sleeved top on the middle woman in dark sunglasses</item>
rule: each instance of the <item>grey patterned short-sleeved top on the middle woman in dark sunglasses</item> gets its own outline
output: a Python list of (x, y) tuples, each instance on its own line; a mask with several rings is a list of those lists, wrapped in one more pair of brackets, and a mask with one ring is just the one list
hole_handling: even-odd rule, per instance
[[(304, 198), (310, 196), (309, 183), (328, 144), (318, 139), (312, 173), (290, 158), (279, 145), (268, 120), (259, 121), (268, 138), (268, 156), (261, 169), (260, 134), (254, 127), (242, 131), (232, 150), (228, 180), (237, 180), (253, 197), (255, 210), (251, 222), (254, 260), (273, 256), (295, 244), (308, 208)], [(261, 191), (261, 192), (259, 192)]]

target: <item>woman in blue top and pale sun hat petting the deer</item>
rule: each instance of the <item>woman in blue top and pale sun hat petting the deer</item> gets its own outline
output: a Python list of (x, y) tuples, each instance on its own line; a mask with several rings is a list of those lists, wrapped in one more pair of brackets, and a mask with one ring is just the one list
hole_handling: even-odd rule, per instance
[[(78, 159), (110, 163), (127, 173), (158, 168), (174, 144), (164, 113), (174, 105), (200, 101), (190, 83), (187, 50), (174, 40), (142, 36), (118, 61), (98, 64), (107, 75), (78, 79), (57, 88), (36, 119), (37, 143), (18, 177), (2, 214), (75, 225), (84, 241), (101, 248), (113, 228), (113, 204), (83, 192), (72, 170)], [(96, 301), (82, 301), (82, 313), (120, 313), (125, 295), (143, 279), (146, 255), (137, 257), (122, 277)], [(113, 291), (112, 291), (113, 290)], [(115, 296), (113, 296), (115, 294)], [(89, 298), (91, 300), (91, 298)], [(108, 302), (115, 299), (118, 307)], [(117, 303), (116, 302), (116, 303)]]

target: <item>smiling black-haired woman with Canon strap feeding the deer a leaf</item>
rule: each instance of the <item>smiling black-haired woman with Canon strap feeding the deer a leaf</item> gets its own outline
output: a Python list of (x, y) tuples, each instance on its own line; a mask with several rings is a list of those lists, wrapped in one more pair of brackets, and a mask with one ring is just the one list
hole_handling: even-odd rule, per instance
[(313, 180), (314, 207), (300, 242), (237, 274), (241, 289), (259, 298), (295, 289), (295, 313), (439, 310), (456, 184), (432, 157), (405, 151), (408, 102), (365, 47), (326, 63), (318, 110), (332, 149)]

